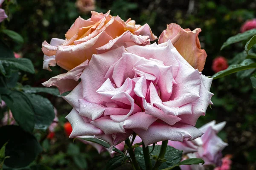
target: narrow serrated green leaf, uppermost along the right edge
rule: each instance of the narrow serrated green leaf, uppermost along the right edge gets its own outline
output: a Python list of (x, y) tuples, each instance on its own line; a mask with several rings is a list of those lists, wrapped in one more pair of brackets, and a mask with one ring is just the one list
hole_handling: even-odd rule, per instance
[(249, 31), (239, 33), (233, 37), (230, 37), (227, 39), (226, 42), (223, 43), (223, 45), (221, 46), (221, 50), (230, 44), (234, 44), (242, 40), (247, 40), (248, 38), (253, 37), (255, 34), (256, 34), (256, 29), (251, 29)]

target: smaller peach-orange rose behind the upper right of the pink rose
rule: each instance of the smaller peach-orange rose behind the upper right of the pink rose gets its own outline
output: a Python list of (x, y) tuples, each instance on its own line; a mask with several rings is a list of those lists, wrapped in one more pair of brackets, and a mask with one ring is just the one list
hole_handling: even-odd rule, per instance
[(203, 71), (207, 54), (201, 49), (198, 38), (200, 32), (201, 28), (191, 31), (189, 28), (183, 29), (178, 24), (171, 23), (160, 35), (158, 43), (171, 40), (177, 51), (193, 68)]

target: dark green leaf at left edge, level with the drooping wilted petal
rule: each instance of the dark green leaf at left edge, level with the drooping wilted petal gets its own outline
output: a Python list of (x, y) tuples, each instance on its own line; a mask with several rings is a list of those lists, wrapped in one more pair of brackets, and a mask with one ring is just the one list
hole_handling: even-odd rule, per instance
[(26, 58), (0, 58), (0, 71), (3, 75), (7, 69), (22, 70), (35, 74), (35, 69), (32, 62)]

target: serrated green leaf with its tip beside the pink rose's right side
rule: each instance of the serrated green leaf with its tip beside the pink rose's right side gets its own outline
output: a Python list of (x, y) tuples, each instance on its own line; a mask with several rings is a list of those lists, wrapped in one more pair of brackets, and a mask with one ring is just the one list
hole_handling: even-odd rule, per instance
[(256, 68), (256, 63), (253, 62), (251, 59), (245, 59), (241, 64), (230, 65), (226, 70), (219, 71), (218, 73), (214, 74), (212, 77), (213, 79), (218, 79), (224, 76), (227, 76), (232, 73), (236, 73), (238, 71), (247, 70), (251, 68)]

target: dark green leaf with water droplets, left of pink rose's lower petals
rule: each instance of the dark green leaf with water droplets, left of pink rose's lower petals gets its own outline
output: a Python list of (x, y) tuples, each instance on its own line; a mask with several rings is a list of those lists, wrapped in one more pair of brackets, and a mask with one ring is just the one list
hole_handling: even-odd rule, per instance
[(26, 94), (35, 112), (35, 129), (46, 130), (51, 125), (55, 113), (52, 103), (47, 99), (35, 94)]

